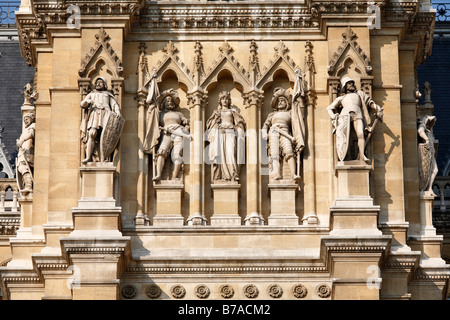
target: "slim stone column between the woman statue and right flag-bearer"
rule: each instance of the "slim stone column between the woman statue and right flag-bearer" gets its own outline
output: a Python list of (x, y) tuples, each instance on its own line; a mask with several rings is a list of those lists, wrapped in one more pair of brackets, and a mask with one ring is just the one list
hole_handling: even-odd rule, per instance
[(264, 219), (260, 212), (260, 119), (261, 103), (264, 96), (257, 89), (244, 95), (248, 109), (247, 141), (246, 141), (246, 169), (247, 169), (247, 215), (246, 225), (262, 225)]

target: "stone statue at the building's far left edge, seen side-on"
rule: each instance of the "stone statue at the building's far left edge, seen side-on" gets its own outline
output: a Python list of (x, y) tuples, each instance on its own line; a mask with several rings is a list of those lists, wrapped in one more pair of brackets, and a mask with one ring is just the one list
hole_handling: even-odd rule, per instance
[(16, 177), (22, 194), (33, 191), (35, 119), (32, 112), (23, 116), (25, 128), (17, 140)]

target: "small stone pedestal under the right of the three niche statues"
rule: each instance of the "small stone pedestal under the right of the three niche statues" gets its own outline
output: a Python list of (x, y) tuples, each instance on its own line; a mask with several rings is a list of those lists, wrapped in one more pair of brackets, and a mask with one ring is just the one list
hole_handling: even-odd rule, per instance
[(270, 216), (272, 226), (297, 226), (299, 217), (295, 213), (295, 195), (298, 185), (291, 181), (279, 180), (269, 184)]

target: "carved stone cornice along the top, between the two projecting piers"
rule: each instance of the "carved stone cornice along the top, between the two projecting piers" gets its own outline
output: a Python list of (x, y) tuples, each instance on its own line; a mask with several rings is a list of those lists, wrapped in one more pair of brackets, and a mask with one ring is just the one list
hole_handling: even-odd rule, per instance
[(140, 19), (152, 31), (206, 29), (292, 29), (313, 25), (306, 4), (279, 3), (150, 3)]

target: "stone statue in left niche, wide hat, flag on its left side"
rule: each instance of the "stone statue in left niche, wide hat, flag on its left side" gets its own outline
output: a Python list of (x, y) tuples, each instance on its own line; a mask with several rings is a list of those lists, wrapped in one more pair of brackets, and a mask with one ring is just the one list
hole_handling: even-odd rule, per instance
[(147, 102), (151, 104), (147, 112), (144, 152), (153, 154), (156, 162), (153, 181), (161, 180), (168, 156), (173, 163), (172, 179), (178, 179), (183, 165), (183, 139), (190, 138), (189, 120), (176, 111), (180, 98), (175, 89), (168, 89), (154, 99), (147, 98)]

